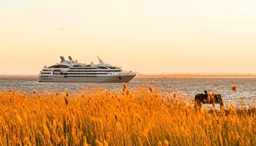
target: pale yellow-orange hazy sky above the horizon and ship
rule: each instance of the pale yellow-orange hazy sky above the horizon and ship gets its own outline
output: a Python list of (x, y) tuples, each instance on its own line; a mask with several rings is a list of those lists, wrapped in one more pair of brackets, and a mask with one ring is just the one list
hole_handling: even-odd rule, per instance
[(59, 62), (141, 73), (256, 72), (256, 1), (0, 1), (0, 74)]

